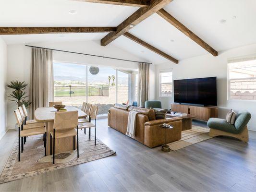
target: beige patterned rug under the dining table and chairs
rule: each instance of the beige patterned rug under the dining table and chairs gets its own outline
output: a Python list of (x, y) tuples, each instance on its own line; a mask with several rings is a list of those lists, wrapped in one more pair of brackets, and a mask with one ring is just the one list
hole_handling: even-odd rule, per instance
[(71, 167), (115, 154), (99, 139), (96, 140), (95, 146), (94, 136), (92, 135), (91, 140), (88, 140), (88, 134), (85, 135), (83, 133), (84, 130), (79, 134), (79, 158), (77, 158), (76, 150), (62, 152), (55, 155), (54, 165), (52, 164), (52, 156), (44, 156), (42, 136), (30, 136), (27, 138), (20, 162), (18, 161), (19, 145), (17, 140), (0, 175), (0, 183)]

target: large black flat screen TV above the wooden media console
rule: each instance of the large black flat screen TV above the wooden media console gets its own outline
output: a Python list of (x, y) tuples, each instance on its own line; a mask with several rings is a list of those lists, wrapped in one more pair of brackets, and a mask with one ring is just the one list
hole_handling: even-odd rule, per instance
[(174, 102), (217, 106), (217, 77), (174, 80)]

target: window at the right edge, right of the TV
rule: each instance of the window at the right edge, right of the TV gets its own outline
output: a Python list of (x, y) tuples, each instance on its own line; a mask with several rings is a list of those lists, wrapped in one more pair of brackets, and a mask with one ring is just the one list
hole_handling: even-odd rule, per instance
[(229, 98), (256, 100), (256, 60), (229, 63)]

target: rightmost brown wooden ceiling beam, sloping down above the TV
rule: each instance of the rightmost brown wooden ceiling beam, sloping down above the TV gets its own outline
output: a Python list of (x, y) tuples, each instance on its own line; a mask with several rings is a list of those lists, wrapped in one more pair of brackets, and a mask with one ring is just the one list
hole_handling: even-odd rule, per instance
[(168, 21), (170, 24), (172, 24), (174, 27), (179, 29), (183, 34), (185, 34), (186, 36), (191, 38), (193, 41), (195, 41), (195, 43), (200, 45), (202, 48), (206, 49), (210, 54), (212, 54), (213, 56), (218, 56), (218, 52), (214, 48), (210, 47), (205, 41), (203, 41), (201, 38), (196, 36), (185, 25), (183, 25), (181, 22), (179, 22), (177, 19), (171, 16), (171, 14), (166, 12), (164, 9), (160, 9), (157, 13), (166, 21)]

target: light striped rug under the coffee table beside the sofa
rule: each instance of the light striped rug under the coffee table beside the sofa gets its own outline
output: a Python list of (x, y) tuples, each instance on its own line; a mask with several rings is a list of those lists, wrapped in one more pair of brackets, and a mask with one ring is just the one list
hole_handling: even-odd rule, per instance
[(192, 125), (191, 130), (186, 130), (182, 132), (182, 138), (178, 141), (168, 144), (172, 151), (177, 151), (186, 146), (197, 144), (201, 141), (211, 139), (209, 136), (210, 129), (200, 126)]

